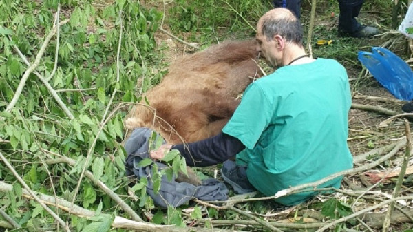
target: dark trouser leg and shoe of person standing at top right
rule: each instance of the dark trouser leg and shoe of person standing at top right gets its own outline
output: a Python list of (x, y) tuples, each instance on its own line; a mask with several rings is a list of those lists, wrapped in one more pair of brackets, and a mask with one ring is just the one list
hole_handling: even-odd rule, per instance
[(369, 37), (379, 34), (374, 27), (360, 25), (359, 16), (364, 0), (339, 0), (339, 36)]

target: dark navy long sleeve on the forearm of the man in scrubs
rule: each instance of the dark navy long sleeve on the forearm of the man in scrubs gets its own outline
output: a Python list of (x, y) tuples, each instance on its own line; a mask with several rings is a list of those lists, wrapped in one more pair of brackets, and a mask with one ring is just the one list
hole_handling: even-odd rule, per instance
[(245, 149), (240, 140), (228, 134), (200, 140), (188, 145), (172, 145), (187, 161), (189, 166), (206, 167), (224, 162)]

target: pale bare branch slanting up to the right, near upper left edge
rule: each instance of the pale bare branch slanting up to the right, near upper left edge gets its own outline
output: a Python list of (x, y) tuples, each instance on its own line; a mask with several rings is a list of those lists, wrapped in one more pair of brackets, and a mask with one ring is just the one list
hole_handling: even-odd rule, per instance
[[(67, 23), (69, 19), (66, 19), (65, 21), (62, 21), (59, 25), (63, 25)], [(12, 101), (10, 101), (9, 105), (6, 107), (6, 112), (9, 112), (10, 109), (16, 105), (17, 101), (19, 100), (19, 97), (21, 95), (21, 92), (23, 91), (23, 87), (25, 86), (25, 82), (28, 80), (30, 74), (36, 70), (36, 67), (39, 66), (40, 60), (43, 57), (43, 54), (45, 53), (45, 50), (47, 48), (47, 45), (50, 42), (50, 39), (54, 36), (54, 33), (56, 33), (57, 27), (53, 27), (52, 30), (47, 34), (45, 41), (41, 45), (41, 48), (39, 52), (36, 55), (36, 59), (34, 60), (34, 63), (28, 67), (28, 69), (24, 72), (23, 77), (20, 80), (19, 86), (16, 89), (16, 92), (14, 93), (14, 96), (12, 98)]]

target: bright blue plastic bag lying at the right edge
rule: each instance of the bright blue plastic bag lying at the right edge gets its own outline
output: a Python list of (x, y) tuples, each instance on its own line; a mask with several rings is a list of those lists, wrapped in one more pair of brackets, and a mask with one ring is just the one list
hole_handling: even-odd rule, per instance
[(413, 71), (403, 59), (380, 47), (372, 47), (372, 52), (361, 51), (357, 58), (396, 98), (413, 100)]

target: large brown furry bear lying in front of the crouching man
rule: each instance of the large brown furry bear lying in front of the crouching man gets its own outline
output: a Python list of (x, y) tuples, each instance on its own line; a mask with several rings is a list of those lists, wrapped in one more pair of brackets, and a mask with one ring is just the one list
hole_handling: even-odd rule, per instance
[(149, 127), (169, 144), (190, 143), (220, 133), (246, 86), (262, 75), (255, 41), (226, 41), (185, 56), (169, 67), (129, 112), (127, 129)]

